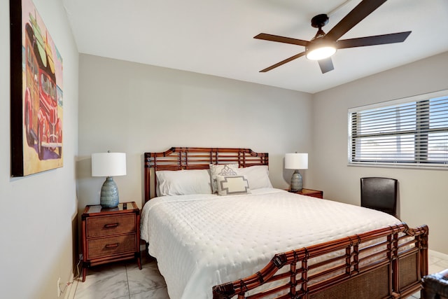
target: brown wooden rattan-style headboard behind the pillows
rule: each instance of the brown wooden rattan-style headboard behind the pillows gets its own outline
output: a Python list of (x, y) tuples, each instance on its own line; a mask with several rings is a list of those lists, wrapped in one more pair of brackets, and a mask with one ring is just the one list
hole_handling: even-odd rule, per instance
[(145, 153), (145, 202), (155, 197), (158, 170), (209, 169), (210, 164), (237, 163), (239, 167), (269, 165), (269, 156), (249, 148), (169, 148), (162, 153)]

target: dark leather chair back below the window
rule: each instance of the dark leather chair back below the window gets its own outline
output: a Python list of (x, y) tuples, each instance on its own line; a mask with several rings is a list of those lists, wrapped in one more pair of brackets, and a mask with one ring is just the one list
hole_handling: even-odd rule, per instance
[(397, 216), (396, 179), (361, 178), (361, 207), (377, 209)]

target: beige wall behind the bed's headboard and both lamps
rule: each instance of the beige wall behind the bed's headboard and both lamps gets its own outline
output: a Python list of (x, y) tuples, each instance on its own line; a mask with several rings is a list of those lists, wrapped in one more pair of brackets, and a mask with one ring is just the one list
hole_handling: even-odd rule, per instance
[(90, 155), (108, 150), (127, 153), (127, 175), (114, 180), (120, 201), (140, 207), (143, 153), (172, 146), (268, 152), (272, 183), (287, 188), (283, 156), (311, 150), (310, 112), (303, 92), (80, 55), (79, 209), (99, 203), (104, 178), (91, 176)]

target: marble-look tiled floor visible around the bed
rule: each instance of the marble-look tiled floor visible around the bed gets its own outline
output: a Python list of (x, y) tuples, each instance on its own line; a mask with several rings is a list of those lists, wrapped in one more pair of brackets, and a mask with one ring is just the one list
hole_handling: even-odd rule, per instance
[[(75, 281), (70, 299), (169, 299), (165, 279), (155, 260), (142, 256), (142, 269), (137, 263), (122, 262), (92, 267), (85, 282)], [(429, 273), (448, 269), (448, 255), (429, 251)], [(409, 299), (420, 298), (416, 293)]]

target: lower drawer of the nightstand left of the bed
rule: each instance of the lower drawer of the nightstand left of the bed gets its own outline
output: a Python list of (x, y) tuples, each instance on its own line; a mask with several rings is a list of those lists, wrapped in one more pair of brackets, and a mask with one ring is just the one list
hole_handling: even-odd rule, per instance
[(87, 240), (88, 259), (136, 251), (135, 234)]

